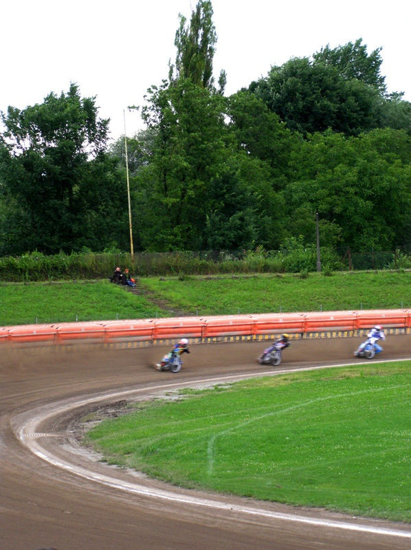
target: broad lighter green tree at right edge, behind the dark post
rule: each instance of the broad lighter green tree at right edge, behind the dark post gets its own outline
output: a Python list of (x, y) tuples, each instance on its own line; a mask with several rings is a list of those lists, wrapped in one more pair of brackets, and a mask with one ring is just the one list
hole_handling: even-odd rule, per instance
[(319, 212), (326, 245), (340, 242), (362, 252), (409, 243), (410, 158), (410, 137), (403, 131), (311, 136), (293, 156), (294, 181), (285, 188), (291, 234), (313, 243)]

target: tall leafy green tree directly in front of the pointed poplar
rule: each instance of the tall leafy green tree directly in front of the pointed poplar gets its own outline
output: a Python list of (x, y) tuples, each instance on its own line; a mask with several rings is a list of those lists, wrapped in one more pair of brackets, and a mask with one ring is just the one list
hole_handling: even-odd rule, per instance
[(156, 140), (139, 186), (149, 201), (143, 216), (153, 209), (157, 215), (146, 245), (198, 250), (203, 248), (209, 182), (226, 155), (223, 97), (182, 78), (152, 87), (149, 94), (143, 116), (148, 128), (156, 130)]

